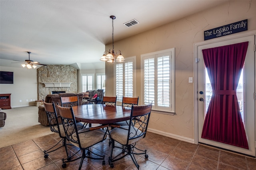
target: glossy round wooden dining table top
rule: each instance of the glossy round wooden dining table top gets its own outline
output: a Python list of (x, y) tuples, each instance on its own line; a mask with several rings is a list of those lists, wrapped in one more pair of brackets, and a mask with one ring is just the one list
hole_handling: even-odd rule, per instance
[(73, 106), (76, 121), (110, 124), (130, 119), (131, 107), (87, 104)]

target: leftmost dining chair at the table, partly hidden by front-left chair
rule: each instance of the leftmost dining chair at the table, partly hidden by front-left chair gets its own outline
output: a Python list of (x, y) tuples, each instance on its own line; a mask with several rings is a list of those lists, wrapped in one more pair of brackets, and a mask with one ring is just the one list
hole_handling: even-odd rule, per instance
[[(67, 139), (66, 139), (66, 135), (62, 126), (62, 122), (60, 120), (60, 116), (57, 116), (57, 112), (56, 112), (56, 107), (54, 102), (52, 103), (45, 103), (43, 101), (44, 104), (44, 109), (46, 112), (46, 116), (48, 118), (49, 121), (49, 125), (50, 125), (50, 130), (54, 133), (57, 133), (59, 135), (59, 137), (61, 138), (60, 141), (58, 143), (56, 143), (56, 145), (54, 145), (53, 147), (51, 147), (48, 150), (44, 150), (44, 158), (48, 158), (50, 152), (53, 152), (57, 149), (60, 149), (61, 147), (65, 147), (66, 150), (66, 154), (67, 154), (67, 158), (69, 158), (68, 156), (68, 149), (67, 149)], [(82, 123), (77, 123), (76, 126), (78, 127), (78, 129), (82, 129), (83, 124)], [(72, 126), (71, 128), (74, 129), (74, 126)], [(62, 145), (59, 146), (58, 148), (56, 148), (56, 146), (62, 141)]]

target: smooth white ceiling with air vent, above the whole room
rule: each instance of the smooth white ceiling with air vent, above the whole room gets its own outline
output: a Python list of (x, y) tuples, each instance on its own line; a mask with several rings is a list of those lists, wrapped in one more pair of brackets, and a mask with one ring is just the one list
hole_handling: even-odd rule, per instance
[[(223, 0), (0, 0), (0, 65), (16, 61), (104, 68), (105, 45), (184, 18)], [(126, 27), (136, 19), (139, 24)], [(125, 56), (124, 56), (125, 57)], [(16, 61), (13, 61), (16, 60)], [(88, 64), (90, 63), (90, 64)]]

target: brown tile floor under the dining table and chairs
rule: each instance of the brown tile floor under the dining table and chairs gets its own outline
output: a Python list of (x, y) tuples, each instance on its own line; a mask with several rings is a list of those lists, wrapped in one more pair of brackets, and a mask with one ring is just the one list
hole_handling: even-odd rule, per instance
[[(80, 160), (68, 163), (62, 168), (62, 158), (66, 156), (65, 149), (49, 153), (44, 158), (43, 150), (59, 141), (58, 135), (52, 134), (28, 140), (22, 143), (0, 148), (0, 170), (62, 170), (78, 169)], [(164, 137), (154, 133), (147, 133), (146, 137), (137, 143), (138, 148), (148, 150), (148, 159), (144, 155), (136, 156), (140, 170), (256, 170), (256, 160)], [(68, 146), (70, 152), (78, 150)], [(102, 160), (84, 159), (84, 170), (136, 170), (131, 158), (114, 162), (114, 168), (108, 166), (110, 147), (108, 139), (97, 144), (92, 150), (105, 155), (106, 165)], [(79, 152), (80, 153), (80, 152)]]

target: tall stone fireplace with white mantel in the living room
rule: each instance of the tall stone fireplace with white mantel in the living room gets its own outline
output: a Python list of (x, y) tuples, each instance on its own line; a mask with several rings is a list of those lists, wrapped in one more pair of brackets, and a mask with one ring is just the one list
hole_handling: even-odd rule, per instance
[(47, 65), (38, 70), (38, 100), (52, 92), (77, 93), (77, 69), (69, 65)]

